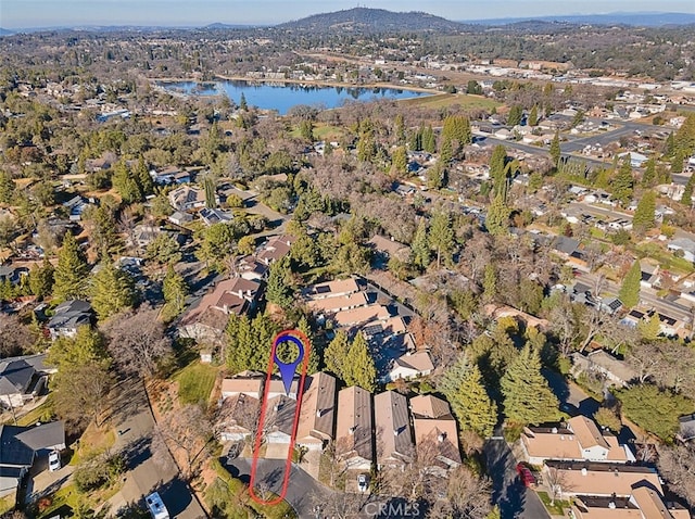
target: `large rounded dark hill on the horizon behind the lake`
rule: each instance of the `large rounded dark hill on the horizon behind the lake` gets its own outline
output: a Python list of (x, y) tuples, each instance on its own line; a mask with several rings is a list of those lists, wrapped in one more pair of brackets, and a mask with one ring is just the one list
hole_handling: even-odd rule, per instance
[(278, 29), (328, 33), (354, 30), (358, 33), (464, 30), (466, 27), (433, 14), (421, 12), (395, 13), (383, 9), (354, 8), (332, 13), (314, 14), (305, 18), (277, 25)]

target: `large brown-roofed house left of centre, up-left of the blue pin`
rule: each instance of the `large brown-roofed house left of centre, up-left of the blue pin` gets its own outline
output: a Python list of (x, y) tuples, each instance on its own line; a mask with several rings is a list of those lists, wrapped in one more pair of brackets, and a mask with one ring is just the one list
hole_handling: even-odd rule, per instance
[(190, 339), (219, 340), (231, 314), (253, 311), (261, 294), (261, 283), (235, 277), (220, 281), (198, 306), (181, 318), (179, 333)]

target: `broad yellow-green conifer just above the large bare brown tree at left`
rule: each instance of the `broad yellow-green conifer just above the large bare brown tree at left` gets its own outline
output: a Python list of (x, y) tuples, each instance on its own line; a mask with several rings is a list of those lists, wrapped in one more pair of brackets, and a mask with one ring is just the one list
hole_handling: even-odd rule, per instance
[(91, 280), (91, 306), (99, 319), (129, 308), (135, 303), (135, 283), (124, 270), (116, 268), (111, 258), (101, 263), (101, 268)]

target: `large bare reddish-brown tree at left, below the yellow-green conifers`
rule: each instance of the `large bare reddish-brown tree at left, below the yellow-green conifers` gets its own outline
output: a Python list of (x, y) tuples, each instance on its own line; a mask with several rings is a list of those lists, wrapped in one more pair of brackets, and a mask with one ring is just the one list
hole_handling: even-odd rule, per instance
[(109, 351), (127, 374), (151, 377), (160, 362), (172, 355), (172, 339), (159, 319), (159, 311), (148, 305), (113, 316), (104, 326)]

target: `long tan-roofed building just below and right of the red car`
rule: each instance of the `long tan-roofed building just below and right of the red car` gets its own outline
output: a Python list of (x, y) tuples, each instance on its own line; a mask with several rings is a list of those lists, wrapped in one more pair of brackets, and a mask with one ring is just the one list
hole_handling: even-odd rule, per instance
[(556, 481), (561, 498), (577, 495), (629, 497), (640, 486), (647, 486), (664, 495), (659, 474), (652, 467), (586, 461), (545, 463), (544, 480)]

